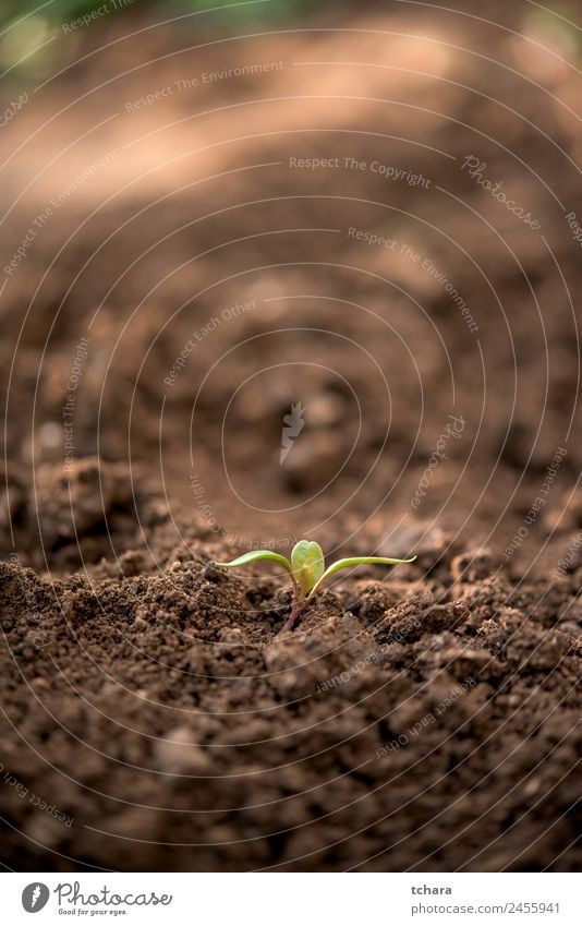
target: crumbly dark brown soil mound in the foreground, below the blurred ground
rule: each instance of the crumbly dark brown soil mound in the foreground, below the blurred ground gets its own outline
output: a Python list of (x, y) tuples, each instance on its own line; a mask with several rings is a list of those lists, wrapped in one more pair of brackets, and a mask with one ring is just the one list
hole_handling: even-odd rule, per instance
[(276, 578), (170, 553), (93, 580), (0, 566), (16, 868), (579, 867), (571, 581), (549, 629), (547, 589), (445, 553), (434, 580), (367, 567), (281, 633)]

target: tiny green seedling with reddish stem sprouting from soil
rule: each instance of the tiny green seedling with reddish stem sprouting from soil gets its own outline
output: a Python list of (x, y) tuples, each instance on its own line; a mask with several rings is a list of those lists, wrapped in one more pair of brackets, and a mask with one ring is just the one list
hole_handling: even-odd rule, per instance
[(234, 566), (246, 566), (248, 563), (257, 563), (259, 560), (270, 560), (282, 566), (291, 576), (293, 593), (291, 613), (284, 625), (284, 629), (289, 630), (295, 624), (303, 609), (317, 594), (326, 579), (335, 573), (339, 573), (340, 569), (362, 566), (366, 563), (393, 566), (398, 563), (412, 563), (415, 558), (415, 556), (412, 560), (392, 560), (388, 556), (350, 556), (348, 560), (338, 560), (326, 569), (324, 551), (319, 544), (315, 540), (300, 540), (291, 551), (291, 562), (287, 556), (274, 553), (272, 550), (252, 550), (230, 563), (215, 563), (215, 565), (221, 566), (223, 569), (232, 569)]

